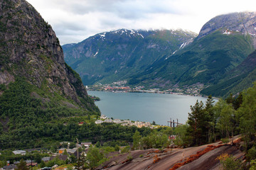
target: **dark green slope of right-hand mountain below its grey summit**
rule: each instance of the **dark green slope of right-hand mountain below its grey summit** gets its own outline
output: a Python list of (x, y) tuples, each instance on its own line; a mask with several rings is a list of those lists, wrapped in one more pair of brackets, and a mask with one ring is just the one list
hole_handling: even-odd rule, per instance
[(152, 64), (146, 72), (131, 77), (129, 83), (160, 86), (169, 81), (169, 87), (214, 84), (252, 51), (249, 35), (224, 35), (223, 30), (217, 30), (194, 40), (167, 60)]

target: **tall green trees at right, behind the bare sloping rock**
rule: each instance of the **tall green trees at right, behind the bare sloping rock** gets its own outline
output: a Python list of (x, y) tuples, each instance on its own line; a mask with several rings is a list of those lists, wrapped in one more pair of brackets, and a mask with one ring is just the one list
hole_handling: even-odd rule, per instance
[(232, 94), (214, 103), (208, 96), (206, 105), (196, 101), (188, 113), (186, 125), (174, 130), (176, 144), (185, 147), (203, 145), (223, 139), (233, 143), (234, 135), (242, 134), (245, 147), (252, 147), (256, 127), (256, 84), (236, 98)]

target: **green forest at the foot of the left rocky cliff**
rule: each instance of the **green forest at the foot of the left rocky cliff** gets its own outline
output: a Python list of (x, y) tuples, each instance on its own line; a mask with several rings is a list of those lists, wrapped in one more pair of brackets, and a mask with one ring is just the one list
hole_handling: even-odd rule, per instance
[[(149, 128), (95, 125), (97, 114), (60, 105), (65, 98), (57, 94), (50, 97), (23, 79), (16, 79), (8, 87), (1, 86), (1, 91), (4, 93), (0, 96), (0, 149), (57, 149), (59, 142), (76, 142), (76, 138), (90, 142), (132, 142), (136, 130), (143, 135), (150, 133)], [(33, 91), (40, 96), (34, 97)], [(78, 125), (80, 122), (83, 124)]]

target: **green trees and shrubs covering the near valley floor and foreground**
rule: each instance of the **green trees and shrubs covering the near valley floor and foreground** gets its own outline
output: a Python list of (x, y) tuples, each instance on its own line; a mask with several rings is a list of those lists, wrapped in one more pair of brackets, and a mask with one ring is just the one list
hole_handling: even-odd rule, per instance
[[(53, 163), (58, 162), (58, 165), (73, 164), (94, 169), (107, 161), (109, 152), (164, 149), (171, 144), (170, 135), (176, 135), (176, 145), (192, 147), (218, 140), (232, 144), (233, 136), (238, 134), (242, 135), (242, 147), (247, 152), (247, 160), (252, 162), (252, 168), (255, 166), (256, 84), (237, 97), (230, 94), (228, 98), (219, 99), (217, 103), (211, 96), (208, 96), (205, 105), (197, 101), (191, 106), (186, 125), (174, 129), (151, 130), (114, 123), (96, 125), (94, 121), (97, 115), (79, 112), (82, 110), (75, 108), (58, 108), (56, 105), (46, 108), (46, 103), (29, 95), (31, 85), (22, 80), (16, 82), (19, 84), (13, 83), (8, 89), (1, 86), (4, 94), (0, 97), (0, 145), (1, 149), (5, 149), (1, 150), (1, 166), (4, 166), (7, 160), (12, 163), (21, 159), (34, 159), (38, 162), (38, 167), (53, 166)], [(47, 164), (41, 161), (42, 157), (47, 157), (63, 147), (60, 145), (62, 141), (70, 141), (70, 145), (75, 147), (76, 138), (95, 145), (90, 147), (87, 157), (77, 159), (74, 155), (69, 155), (67, 161), (58, 158)], [(18, 156), (11, 152), (14, 149), (28, 148), (41, 148), (41, 151)], [(231, 164), (232, 167), (237, 167), (235, 169), (244, 167), (231, 156), (222, 155), (219, 159), (223, 166)]]

